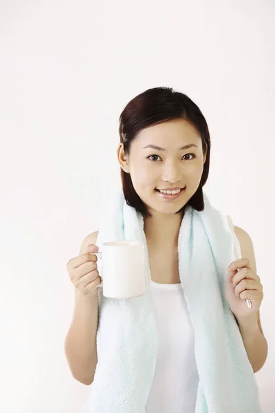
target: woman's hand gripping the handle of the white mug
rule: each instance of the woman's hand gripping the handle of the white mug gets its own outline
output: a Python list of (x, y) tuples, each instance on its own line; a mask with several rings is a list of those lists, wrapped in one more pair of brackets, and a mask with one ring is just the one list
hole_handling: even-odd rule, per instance
[(93, 253), (98, 252), (96, 244), (88, 244), (86, 252), (71, 258), (66, 269), (74, 287), (83, 295), (98, 295), (98, 286), (102, 281), (98, 273), (98, 257)]

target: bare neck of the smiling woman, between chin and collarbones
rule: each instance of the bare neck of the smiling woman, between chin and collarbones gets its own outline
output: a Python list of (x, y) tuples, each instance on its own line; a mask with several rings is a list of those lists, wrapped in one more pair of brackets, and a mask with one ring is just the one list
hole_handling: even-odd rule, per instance
[(144, 219), (144, 233), (154, 246), (177, 246), (181, 214), (154, 214)]

